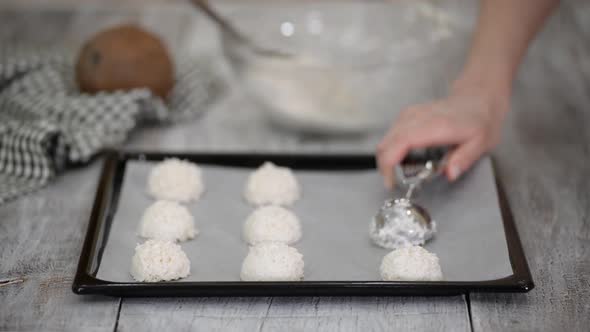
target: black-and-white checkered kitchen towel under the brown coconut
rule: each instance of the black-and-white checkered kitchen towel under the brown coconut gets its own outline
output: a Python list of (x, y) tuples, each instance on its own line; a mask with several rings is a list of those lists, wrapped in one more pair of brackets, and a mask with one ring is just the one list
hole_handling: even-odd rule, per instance
[(176, 121), (203, 111), (223, 90), (213, 61), (202, 59), (177, 61), (167, 104), (146, 89), (82, 94), (73, 56), (8, 50), (0, 50), (0, 204), (120, 144), (142, 121)]

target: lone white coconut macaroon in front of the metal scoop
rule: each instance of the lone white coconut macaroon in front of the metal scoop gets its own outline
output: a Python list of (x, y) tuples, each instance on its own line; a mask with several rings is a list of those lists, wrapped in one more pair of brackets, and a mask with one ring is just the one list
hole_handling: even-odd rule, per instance
[(381, 278), (385, 281), (443, 280), (438, 257), (420, 246), (396, 249), (383, 257)]

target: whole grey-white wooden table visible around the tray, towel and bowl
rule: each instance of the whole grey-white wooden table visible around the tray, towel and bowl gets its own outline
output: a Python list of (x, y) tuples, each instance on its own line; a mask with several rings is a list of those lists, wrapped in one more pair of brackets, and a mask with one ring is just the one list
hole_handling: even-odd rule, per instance
[[(575, 3), (564, 3), (532, 46), (515, 85), (503, 142), (493, 153), (535, 279), (532, 292), (422, 298), (77, 296), (70, 287), (99, 158), (0, 206), (0, 330), (587, 330), (590, 3)], [(195, 31), (212, 29), (182, 3), (11, 6), (16, 7), (0, 7), (0, 48), (16, 40), (76, 45), (101, 27), (129, 19), (154, 29), (174, 48), (189, 45)], [(240, 93), (222, 103), (192, 122), (139, 130), (126, 147), (371, 153), (381, 134), (347, 139), (283, 134)]]

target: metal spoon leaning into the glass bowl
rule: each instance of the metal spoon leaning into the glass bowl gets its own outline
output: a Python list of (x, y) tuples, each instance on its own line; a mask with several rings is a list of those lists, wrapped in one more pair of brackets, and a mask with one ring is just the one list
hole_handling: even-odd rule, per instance
[(255, 54), (274, 58), (293, 57), (292, 54), (276, 49), (262, 47), (257, 43), (253, 42), (250, 38), (246, 37), (238, 29), (236, 29), (227, 19), (219, 15), (219, 13), (209, 5), (208, 0), (190, 0), (190, 2), (197, 8), (201, 9), (211, 20), (213, 20), (213, 22), (215, 22), (221, 28), (221, 32), (225, 36), (227, 36), (231, 41), (242, 46), (245, 46), (246, 48), (253, 51)]

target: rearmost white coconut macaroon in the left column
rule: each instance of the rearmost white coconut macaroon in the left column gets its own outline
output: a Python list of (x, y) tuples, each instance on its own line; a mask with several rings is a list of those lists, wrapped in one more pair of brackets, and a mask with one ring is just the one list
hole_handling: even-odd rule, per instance
[(187, 203), (198, 200), (204, 190), (199, 166), (177, 158), (157, 164), (148, 178), (148, 192), (156, 199)]

